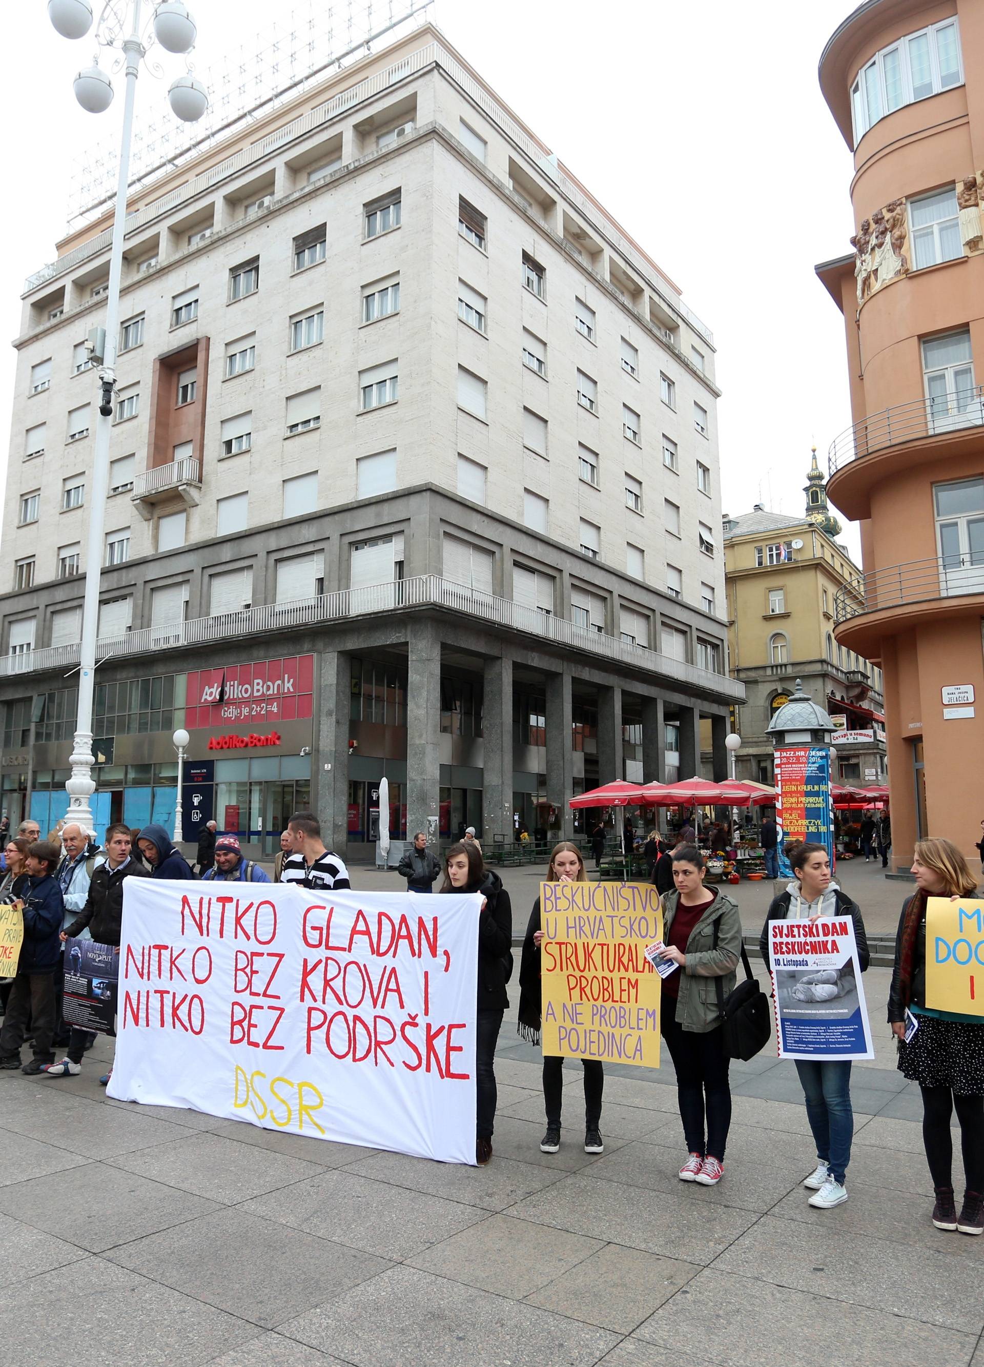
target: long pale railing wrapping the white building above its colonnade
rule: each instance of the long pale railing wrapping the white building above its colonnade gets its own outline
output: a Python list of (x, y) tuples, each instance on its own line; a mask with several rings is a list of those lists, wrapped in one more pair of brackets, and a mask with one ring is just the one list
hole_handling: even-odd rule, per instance
[[(575, 626), (552, 612), (523, 607), (493, 593), (481, 593), (436, 574), (374, 584), (362, 589), (340, 589), (336, 593), (295, 599), (291, 603), (265, 603), (261, 607), (220, 612), (217, 617), (194, 618), (191, 622), (174, 622), (169, 626), (145, 626), (100, 641), (96, 649), (100, 660), (146, 655), (176, 647), (221, 644), (234, 637), (265, 636), (269, 632), (297, 630), (324, 622), (422, 607), (448, 608), (459, 614), (465, 622), (489, 622), (493, 626), (521, 632), (523, 636), (555, 641), (570, 649), (646, 670), (674, 684), (707, 689), (728, 701), (745, 701), (745, 686), (727, 674), (701, 670), (696, 664), (660, 655), (659, 651), (651, 651), (644, 645), (605, 636), (590, 627)], [(41, 670), (62, 670), (78, 664), (78, 645), (56, 645), (20, 655), (5, 655), (0, 656), (0, 678)]]

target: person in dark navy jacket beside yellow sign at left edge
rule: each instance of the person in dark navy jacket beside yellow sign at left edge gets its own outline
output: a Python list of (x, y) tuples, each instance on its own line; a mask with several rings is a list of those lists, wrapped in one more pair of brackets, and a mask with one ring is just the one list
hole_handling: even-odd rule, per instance
[(27, 886), (11, 904), (23, 917), (23, 942), (0, 1029), (0, 1068), (20, 1068), (20, 1046), (30, 1021), (34, 1057), (20, 1068), (30, 1074), (55, 1062), (55, 969), (64, 917), (62, 889), (55, 878), (57, 861), (59, 852), (49, 841), (34, 841), (26, 858)]

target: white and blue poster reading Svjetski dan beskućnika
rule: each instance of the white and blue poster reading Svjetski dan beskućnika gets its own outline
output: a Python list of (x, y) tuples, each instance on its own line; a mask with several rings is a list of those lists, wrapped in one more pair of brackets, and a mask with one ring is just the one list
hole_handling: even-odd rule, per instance
[(854, 923), (769, 921), (780, 1058), (875, 1058)]

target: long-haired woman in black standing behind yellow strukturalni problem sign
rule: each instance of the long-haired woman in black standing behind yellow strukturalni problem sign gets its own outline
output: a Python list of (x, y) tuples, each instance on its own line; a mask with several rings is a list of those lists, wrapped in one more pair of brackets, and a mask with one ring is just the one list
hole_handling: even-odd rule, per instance
[[(577, 845), (560, 841), (551, 852), (547, 867), (547, 883), (586, 883), (584, 858)], [(540, 990), (540, 946), (544, 932), (540, 930), (540, 898), (533, 902), (522, 960), (519, 961), (519, 1033), (533, 1044), (540, 1043), (543, 1018), (543, 994)], [(601, 1092), (604, 1069), (597, 1058), (582, 1058), (585, 1087), (585, 1154), (603, 1154), (601, 1141)], [(540, 1140), (543, 1154), (556, 1154), (560, 1148), (560, 1106), (563, 1100), (563, 1058), (544, 1054), (544, 1103), (547, 1107), (547, 1133)]]

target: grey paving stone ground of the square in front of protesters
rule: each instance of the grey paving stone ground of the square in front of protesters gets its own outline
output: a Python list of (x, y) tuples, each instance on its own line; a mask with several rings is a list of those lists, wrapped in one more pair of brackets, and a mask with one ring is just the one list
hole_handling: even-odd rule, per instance
[(879, 1058), (832, 1211), (806, 1204), (800, 1083), (768, 1055), (733, 1066), (718, 1188), (676, 1178), (668, 1059), (605, 1069), (601, 1156), (569, 1065), (541, 1154), (514, 1010), (487, 1169), (112, 1102), (102, 1038), (81, 1077), (3, 1073), (0, 1364), (984, 1367), (984, 1239), (929, 1223), (920, 1098), (865, 986)]

